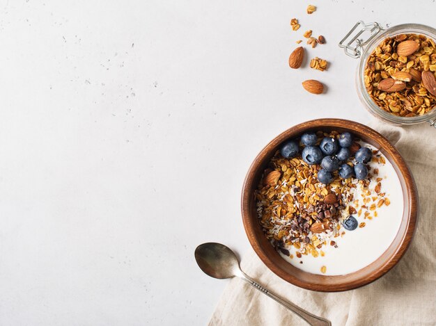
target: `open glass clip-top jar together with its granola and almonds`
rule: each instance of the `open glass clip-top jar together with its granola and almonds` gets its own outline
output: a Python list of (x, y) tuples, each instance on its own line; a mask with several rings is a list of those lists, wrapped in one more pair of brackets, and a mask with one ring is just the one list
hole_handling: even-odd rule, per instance
[(391, 124), (436, 127), (435, 28), (358, 22), (339, 47), (360, 59), (357, 92), (370, 113)]

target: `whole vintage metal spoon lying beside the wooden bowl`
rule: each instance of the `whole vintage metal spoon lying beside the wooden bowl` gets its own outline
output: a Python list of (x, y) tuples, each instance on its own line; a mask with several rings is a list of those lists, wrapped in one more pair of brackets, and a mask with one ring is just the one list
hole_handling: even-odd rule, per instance
[(203, 245), (199, 245), (195, 250), (195, 260), (203, 272), (216, 279), (228, 279), (235, 276), (240, 277), (254, 288), (257, 288), (260, 292), (272, 298), (272, 300), (279, 302), (283, 307), (297, 313), (297, 315), (303, 318), (309, 325), (332, 326), (329, 320), (315, 316), (313, 313), (297, 307), (292, 302), (284, 300), (279, 295), (272, 293), (267, 288), (255, 282), (247, 276), (247, 274), (242, 272), (235, 253), (229, 247), (221, 245), (221, 243), (203, 243)]

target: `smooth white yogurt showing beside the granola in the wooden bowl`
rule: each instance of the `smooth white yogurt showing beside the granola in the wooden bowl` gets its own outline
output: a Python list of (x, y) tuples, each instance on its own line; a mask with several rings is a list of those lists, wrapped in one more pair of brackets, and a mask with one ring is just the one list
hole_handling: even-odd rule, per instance
[[(371, 147), (371, 145), (362, 145), (375, 149)], [(383, 155), (381, 154), (381, 156)], [(357, 214), (353, 214), (359, 224), (361, 222), (366, 223), (365, 227), (357, 227), (357, 229), (353, 231), (347, 231), (341, 228), (340, 231), (345, 231), (345, 234), (331, 239), (336, 242), (337, 247), (324, 245), (320, 249), (325, 252), (325, 256), (313, 257), (309, 254), (297, 258), (297, 250), (295, 247), (286, 248), (289, 250), (290, 254), (293, 254), (293, 259), (280, 253), (281, 256), (301, 270), (320, 275), (345, 275), (350, 272), (355, 272), (368, 266), (381, 256), (396, 237), (403, 218), (404, 204), (400, 180), (398, 179), (394, 167), (385, 156), (383, 157), (386, 159), (384, 165), (372, 161), (368, 163), (371, 168), (378, 168), (379, 170), (378, 175), (373, 175), (371, 178), (369, 188), (373, 190), (377, 184), (375, 179), (377, 179), (377, 177), (382, 178), (381, 191), (382, 193), (386, 193), (385, 197), (389, 198), (391, 202), (389, 206), (382, 205), (380, 208), (377, 207), (377, 217), (373, 217), (374, 214), (371, 213), (373, 217), (372, 220), (364, 219), (363, 213), (360, 217), (358, 217)], [(361, 201), (362, 197), (359, 194), (359, 189), (356, 189), (354, 193), (354, 200), (357, 199), (359, 199), (359, 206), (364, 204)], [(300, 261), (302, 263), (300, 263)], [(327, 267), (325, 273), (320, 272), (322, 266)]]

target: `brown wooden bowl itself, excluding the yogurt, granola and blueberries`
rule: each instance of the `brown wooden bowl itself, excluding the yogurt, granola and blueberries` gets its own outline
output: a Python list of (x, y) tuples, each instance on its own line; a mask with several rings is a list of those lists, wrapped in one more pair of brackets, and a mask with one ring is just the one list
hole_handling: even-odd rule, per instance
[[(274, 249), (258, 222), (256, 212), (256, 190), (263, 170), (274, 156), (284, 140), (295, 138), (306, 131), (350, 131), (361, 140), (373, 145), (394, 166), (404, 197), (403, 219), (394, 241), (387, 250), (370, 265), (346, 275), (316, 275), (299, 270), (283, 259)], [(418, 215), (418, 193), (412, 174), (407, 164), (389, 141), (380, 133), (357, 122), (342, 119), (319, 119), (297, 124), (274, 138), (255, 158), (251, 164), (242, 189), (242, 220), (244, 228), (253, 247), (267, 268), (287, 282), (313, 291), (336, 292), (348, 291), (375, 281), (395, 266), (405, 254), (412, 241), (416, 218)]]

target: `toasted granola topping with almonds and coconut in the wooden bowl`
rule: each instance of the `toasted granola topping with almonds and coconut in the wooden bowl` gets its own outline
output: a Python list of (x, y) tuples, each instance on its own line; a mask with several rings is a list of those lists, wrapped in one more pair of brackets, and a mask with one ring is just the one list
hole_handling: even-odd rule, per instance
[[(320, 142), (324, 137), (339, 135), (320, 131), (317, 136)], [(386, 163), (377, 150), (373, 151), (372, 161)], [(333, 181), (327, 185), (318, 180), (320, 170), (319, 164), (309, 165), (299, 154), (284, 158), (277, 151), (256, 190), (258, 218), (265, 236), (291, 259), (290, 246), (297, 250), (297, 258), (307, 254), (324, 256), (322, 247), (336, 246), (333, 239), (349, 229), (345, 222), (350, 221), (350, 216), (371, 220), (377, 216), (377, 207), (390, 204), (381, 192), (382, 178), (377, 178), (377, 168), (370, 170), (364, 180), (342, 179), (335, 172)], [(365, 225), (360, 222), (359, 227)]]

